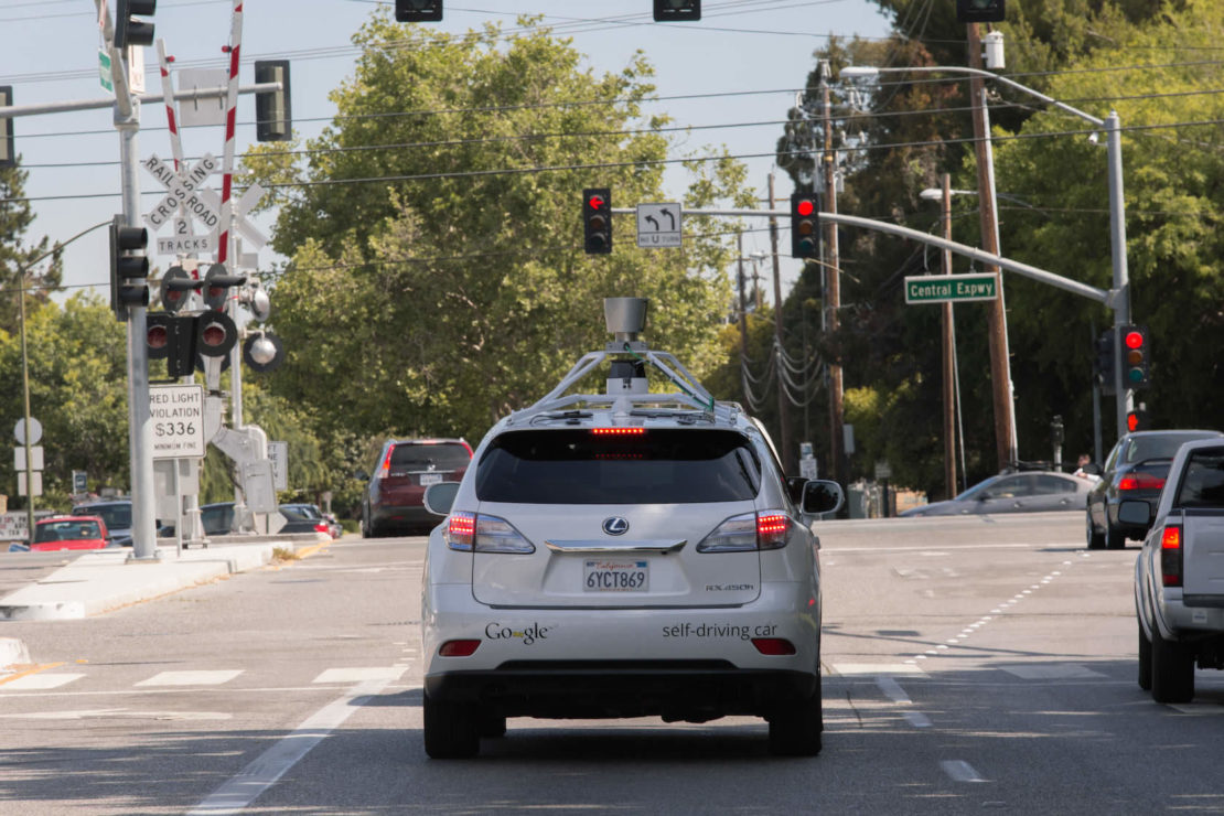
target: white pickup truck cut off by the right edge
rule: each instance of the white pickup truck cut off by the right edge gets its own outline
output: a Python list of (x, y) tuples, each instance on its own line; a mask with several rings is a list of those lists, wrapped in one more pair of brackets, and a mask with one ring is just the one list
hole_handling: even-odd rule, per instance
[(1224, 440), (1177, 450), (1154, 516), (1133, 500), (1119, 514), (1152, 524), (1135, 563), (1140, 686), (1190, 702), (1196, 666), (1224, 669)]

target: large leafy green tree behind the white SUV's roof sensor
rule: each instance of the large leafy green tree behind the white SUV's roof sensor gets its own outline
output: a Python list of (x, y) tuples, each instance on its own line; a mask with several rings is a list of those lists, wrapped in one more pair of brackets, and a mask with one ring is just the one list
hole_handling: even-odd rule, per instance
[[(271, 388), (312, 404), (322, 438), (477, 440), (605, 345), (605, 296), (649, 297), (651, 344), (698, 376), (717, 360), (732, 256), (716, 223), (687, 219), (683, 252), (646, 252), (617, 217), (614, 252), (581, 252), (584, 187), (611, 187), (617, 207), (661, 199), (666, 119), (640, 113), (650, 66), (594, 76), (523, 24), (452, 37), (376, 12), (306, 165), (282, 146), (247, 160), (278, 192), (274, 243), (291, 257), (275, 284), (291, 354)], [(688, 168), (685, 206), (750, 202), (742, 165)]]

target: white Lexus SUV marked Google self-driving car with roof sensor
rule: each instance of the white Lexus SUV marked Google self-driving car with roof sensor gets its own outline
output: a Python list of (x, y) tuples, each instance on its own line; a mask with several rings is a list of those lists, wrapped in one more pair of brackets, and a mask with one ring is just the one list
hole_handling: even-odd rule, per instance
[[(841, 487), (787, 478), (760, 423), (638, 340), (645, 307), (605, 301), (616, 340), (426, 492), (447, 516), (421, 604), (431, 757), (507, 717), (755, 716), (772, 752), (820, 751), (809, 525)], [(605, 363), (606, 393), (572, 393)]]

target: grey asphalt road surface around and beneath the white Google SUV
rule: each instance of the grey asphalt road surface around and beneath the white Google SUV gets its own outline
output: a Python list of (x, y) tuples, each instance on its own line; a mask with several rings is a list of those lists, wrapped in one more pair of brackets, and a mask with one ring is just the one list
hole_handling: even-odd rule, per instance
[(1224, 673), (1136, 681), (1137, 548), (1082, 514), (820, 525), (825, 749), (765, 724), (512, 719), (421, 746), (424, 540), (348, 537), (99, 618), (9, 621), (0, 814), (1224, 812)]

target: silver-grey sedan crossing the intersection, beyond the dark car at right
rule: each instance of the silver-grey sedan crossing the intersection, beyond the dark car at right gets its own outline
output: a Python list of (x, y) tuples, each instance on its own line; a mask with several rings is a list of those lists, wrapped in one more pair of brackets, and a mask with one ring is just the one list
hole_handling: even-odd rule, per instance
[(946, 502), (902, 510), (900, 516), (987, 515), (1082, 510), (1093, 482), (1054, 471), (999, 473)]

